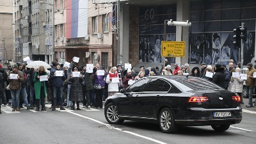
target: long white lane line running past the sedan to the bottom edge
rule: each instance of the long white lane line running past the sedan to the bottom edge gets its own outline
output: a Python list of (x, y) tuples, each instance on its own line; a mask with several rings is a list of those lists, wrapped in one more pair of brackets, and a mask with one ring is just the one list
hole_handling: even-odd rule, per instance
[(162, 141), (155, 140), (155, 139), (153, 139), (153, 138), (148, 138), (147, 136), (142, 136), (142, 135), (136, 134), (136, 133), (134, 133), (134, 132), (125, 131), (125, 130), (122, 130), (122, 129), (113, 127), (113, 126), (111, 126), (111, 125), (109, 125), (109, 124), (105, 124), (105, 123), (103, 123), (103, 122), (100, 122), (99, 120), (95, 120), (95, 119), (89, 118), (89, 117), (87, 117), (87, 116), (79, 115), (79, 114), (74, 113), (74, 112), (72, 112), (72, 111), (67, 111), (67, 112), (68, 112), (68, 113), (72, 113), (73, 115), (80, 116), (80, 117), (82, 117), (82, 118), (86, 118), (86, 119), (88, 119), (88, 120), (92, 120), (93, 122), (97, 122), (97, 123), (99, 123), (99, 124), (106, 125), (106, 127), (108, 127), (109, 129), (115, 129), (115, 130), (117, 130), (117, 131), (126, 132), (126, 133), (128, 133), (128, 134), (132, 134), (132, 135), (134, 135), (134, 136), (138, 136), (138, 137), (144, 138), (144, 139), (146, 139), (146, 140), (154, 141), (154, 142), (156, 142), (156, 143), (166, 144), (166, 143), (164, 143), (164, 142), (162, 142)]

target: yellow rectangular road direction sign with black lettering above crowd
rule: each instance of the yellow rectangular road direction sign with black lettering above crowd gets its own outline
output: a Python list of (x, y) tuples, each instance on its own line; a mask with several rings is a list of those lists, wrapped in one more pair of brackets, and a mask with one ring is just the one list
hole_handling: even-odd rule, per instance
[(185, 42), (176, 41), (162, 41), (163, 57), (184, 57), (185, 56)]

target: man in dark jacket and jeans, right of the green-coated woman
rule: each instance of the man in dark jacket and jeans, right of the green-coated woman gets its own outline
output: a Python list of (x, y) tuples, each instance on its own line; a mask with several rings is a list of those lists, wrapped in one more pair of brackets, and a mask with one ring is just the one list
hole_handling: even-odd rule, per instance
[(56, 64), (56, 69), (52, 68), (51, 74), (50, 74), (50, 79), (52, 81), (52, 90), (53, 90), (53, 108), (52, 111), (56, 110), (56, 99), (58, 97), (59, 103), (60, 103), (60, 110), (65, 110), (63, 108), (63, 84), (65, 81), (65, 76), (64, 72), (62, 73), (62, 76), (56, 76), (56, 70), (61, 70), (60, 69), (60, 63)]

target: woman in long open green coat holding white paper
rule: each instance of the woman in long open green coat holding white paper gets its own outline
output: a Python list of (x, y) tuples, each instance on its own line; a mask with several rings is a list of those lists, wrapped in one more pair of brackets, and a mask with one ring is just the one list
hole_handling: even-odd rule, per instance
[[(35, 95), (36, 95), (36, 111), (40, 109), (40, 102), (42, 109), (41, 111), (45, 111), (45, 97), (47, 95), (47, 83), (48, 81), (40, 81), (40, 76), (48, 76), (48, 73), (45, 71), (44, 66), (40, 66), (34, 76), (34, 87), (35, 87)], [(49, 77), (47, 77), (49, 79)]]

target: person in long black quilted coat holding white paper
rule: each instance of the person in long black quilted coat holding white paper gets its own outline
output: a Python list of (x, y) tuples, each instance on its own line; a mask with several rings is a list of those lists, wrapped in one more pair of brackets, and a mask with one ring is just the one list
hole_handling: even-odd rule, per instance
[[(78, 67), (74, 66), (72, 68), (72, 72), (78, 72)], [(83, 101), (83, 85), (84, 85), (84, 79), (82, 74), (80, 74), (79, 77), (74, 77), (73, 74), (71, 74), (68, 82), (72, 83), (70, 87), (70, 93), (69, 93), (69, 100), (72, 100), (73, 106), (72, 110), (75, 110), (75, 103), (77, 105), (77, 110), (81, 110), (79, 108), (79, 102)]]

